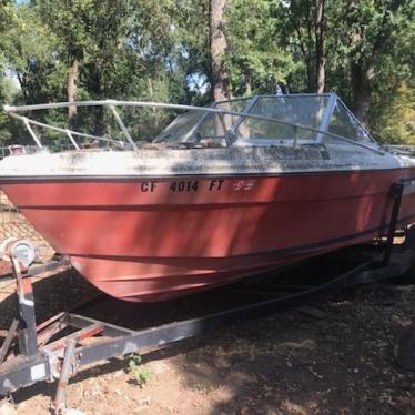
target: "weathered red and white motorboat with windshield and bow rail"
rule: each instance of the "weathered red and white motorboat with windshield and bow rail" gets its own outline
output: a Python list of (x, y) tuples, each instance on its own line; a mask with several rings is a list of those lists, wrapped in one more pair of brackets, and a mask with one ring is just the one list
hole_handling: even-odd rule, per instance
[[(70, 105), (103, 108), (120, 133), (36, 119)], [(180, 114), (144, 142), (123, 122), (131, 109)], [(415, 178), (415, 159), (379, 145), (334, 93), (4, 110), (36, 145), (0, 162), (2, 191), (81, 275), (124, 301), (164, 301), (382, 237), (391, 185)], [(45, 131), (70, 148), (55, 151)], [(412, 222), (405, 194), (398, 223)]]

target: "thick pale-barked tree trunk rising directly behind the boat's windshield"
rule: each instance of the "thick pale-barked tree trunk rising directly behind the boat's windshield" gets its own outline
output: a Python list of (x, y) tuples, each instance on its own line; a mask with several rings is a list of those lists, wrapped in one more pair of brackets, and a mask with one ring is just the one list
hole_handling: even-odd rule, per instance
[(212, 91), (214, 101), (230, 99), (230, 82), (225, 64), (225, 6), (226, 0), (211, 0), (210, 3), (210, 49), (212, 65)]

